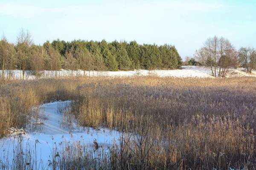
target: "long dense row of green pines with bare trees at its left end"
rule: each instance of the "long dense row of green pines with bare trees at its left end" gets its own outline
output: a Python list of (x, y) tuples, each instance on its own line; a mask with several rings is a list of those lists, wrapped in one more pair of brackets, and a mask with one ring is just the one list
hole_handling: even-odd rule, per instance
[(84, 71), (118, 71), (134, 69), (177, 69), (182, 59), (173, 45), (138, 44), (73, 40), (48, 40), (35, 45), (28, 30), (20, 29), (15, 44), (3, 36), (0, 41), (0, 67), (5, 70), (20, 69), (35, 74), (43, 70), (60, 69)]

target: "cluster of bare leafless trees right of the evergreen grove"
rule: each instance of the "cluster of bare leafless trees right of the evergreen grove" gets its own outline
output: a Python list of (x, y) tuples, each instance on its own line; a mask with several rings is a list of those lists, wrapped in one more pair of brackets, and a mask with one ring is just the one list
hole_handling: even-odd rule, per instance
[(188, 65), (207, 65), (212, 76), (224, 77), (230, 68), (239, 66), (252, 73), (256, 69), (256, 50), (250, 47), (241, 47), (239, 51), (224, 37), (210, 37), (203, 47), (195, 51), (195, 58), (185, 58)]

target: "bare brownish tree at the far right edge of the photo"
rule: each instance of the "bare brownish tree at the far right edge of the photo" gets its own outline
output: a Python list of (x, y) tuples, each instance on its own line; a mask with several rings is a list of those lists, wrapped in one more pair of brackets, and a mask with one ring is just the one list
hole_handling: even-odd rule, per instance
[(252, 73), (256, 69), (256, 51), (254, 48), (241, 47), (239, 49), (239, 62), (246, 68), (247, 72)]

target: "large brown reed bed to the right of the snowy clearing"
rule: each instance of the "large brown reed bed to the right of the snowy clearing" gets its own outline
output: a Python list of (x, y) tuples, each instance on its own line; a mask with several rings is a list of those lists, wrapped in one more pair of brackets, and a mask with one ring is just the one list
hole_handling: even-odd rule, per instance
[(125, 142), (125, 160), (139, 169), (250, 169), (255, 87), (255, 78), (90, 79), (78, 87), (73, 111), (83, 126), (146, 133), (142, 144)]

